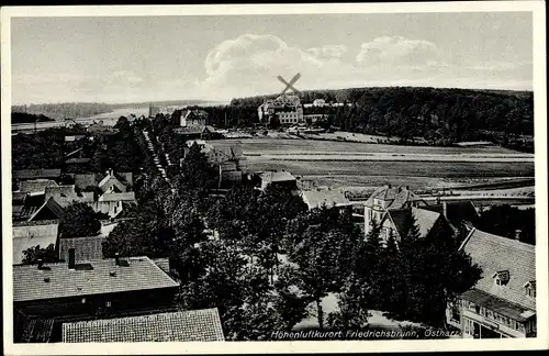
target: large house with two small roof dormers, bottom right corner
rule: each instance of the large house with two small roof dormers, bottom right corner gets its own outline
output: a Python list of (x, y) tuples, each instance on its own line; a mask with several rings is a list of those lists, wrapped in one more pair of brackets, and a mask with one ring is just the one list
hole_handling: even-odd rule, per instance
[(469, 225), (460, 249), (482, 268), (482, 277), (449, 305), (448, 323), (464, 338), (535, 337), (535, 246)]

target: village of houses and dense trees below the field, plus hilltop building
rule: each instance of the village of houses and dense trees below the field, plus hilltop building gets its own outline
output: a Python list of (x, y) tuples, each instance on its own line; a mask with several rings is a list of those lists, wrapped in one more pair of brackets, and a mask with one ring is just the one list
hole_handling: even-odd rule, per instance
[[(345, 105), (284, 92), (258, 108), (270, 133)], [(12, 171), (16, 343), (536, 336), (535, 246), (485, 231), (467, 197), (257, 171), (200, 109), (18, 136), (60, 156)]]

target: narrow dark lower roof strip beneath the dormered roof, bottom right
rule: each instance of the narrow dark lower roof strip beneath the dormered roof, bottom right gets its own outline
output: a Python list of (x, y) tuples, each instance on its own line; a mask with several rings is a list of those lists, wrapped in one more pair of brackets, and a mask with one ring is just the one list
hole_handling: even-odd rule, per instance
[(491, 293), (486, 293), (480, 289), (473, 288), (461, 294), (461, 299), (473, 302), (480, 307), (484, 307), (504, 316), (514, 319), (518, 322), (525, 322), (535, 313), (519, 304), (512, 303), (505, 299), (498, 298)]

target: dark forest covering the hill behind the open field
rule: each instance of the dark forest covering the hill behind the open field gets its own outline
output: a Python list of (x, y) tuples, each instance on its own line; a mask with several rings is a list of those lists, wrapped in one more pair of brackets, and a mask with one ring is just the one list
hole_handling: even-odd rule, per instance
[[(265, 99), (274, 97), (233, 99), (231, 107), (257, 110)], [(511, 142), (516, 144), (519, 135), (534, 134), (533, 92), (392, 87), (310, 90), (301, 98), (302, 103), (314, 99), (351, 103), (305, 109), (305, 113), (327, 113), (326, 125), (350, 132), (404, 140), (423, 137), (433, 144), (495, 140), (486, 135), (492, 132), (501, 136), (497, 143), (504, 146)], [(250, 116), (249, 123), (254, 120)], [(484, 132), (481, 134), (481, 131)], [(520, 148), (520, 144), (517, 145)]]

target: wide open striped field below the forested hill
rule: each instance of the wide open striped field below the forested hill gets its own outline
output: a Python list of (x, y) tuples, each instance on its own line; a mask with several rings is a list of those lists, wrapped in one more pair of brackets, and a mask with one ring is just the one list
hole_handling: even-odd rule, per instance
[[(496, 189), (531, 186), (534, 177), (533, 155), (498, 146), (399, 146), (262, 137), (238, 141), (250, 170), (285, 169), (317, 187), (392, 183), (416, 190), (468, 188), (471, 185)], [(212, 143), (229, 146), (235, 141)], [(345, 160), (357, 156), (359, 159)], [(415, 160), (405, 160), (410, 157)], [(493, 185), (496, 186), (491, 187)]]

